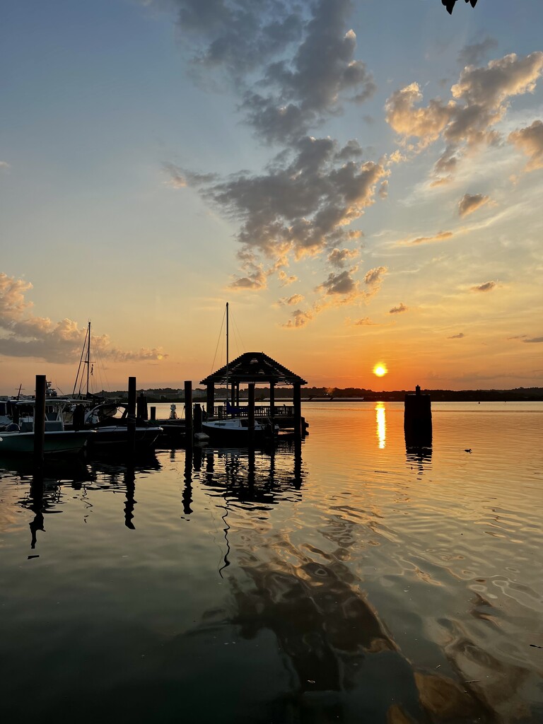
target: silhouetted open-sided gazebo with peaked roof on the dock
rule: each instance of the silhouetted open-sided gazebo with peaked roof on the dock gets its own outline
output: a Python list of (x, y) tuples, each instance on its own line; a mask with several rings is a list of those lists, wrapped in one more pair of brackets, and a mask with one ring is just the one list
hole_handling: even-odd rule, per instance
[[(301, 430), (300, 390), (301, 386), (307, 382), (265, 355), (264, 352), (245, 352), (210, 374), (200, 384), (205, 384), (207, 387), (206, 411), (208, 417), (222, 415), (223, 408), (215, 408), (215, 385), (228, 384), (230, 386), (230, 405), (236, 409), (237, 414), (247, 415), (249, 419), (254, 419), (255, 413), (265, 414), (271, 418), (288, 416), (293, 418), (295, 430), (297, 432)], [(240, 384), (248, 385), (248, 404), (245, 408), (240, 408)], [(269, 408), (255, 408), (256, 384), (269, 384)], [(292, 386), (292, 408), (285, 408), (284, 405), (281, 408), (275, 407), (275, 387), (282, 384)]]

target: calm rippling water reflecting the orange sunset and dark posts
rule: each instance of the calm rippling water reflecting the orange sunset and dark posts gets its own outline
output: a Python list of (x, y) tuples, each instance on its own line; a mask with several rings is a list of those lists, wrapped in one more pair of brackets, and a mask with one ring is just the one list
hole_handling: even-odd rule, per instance
[(0, 461), (4, 720), (543, 721), (543, 404), (434, 404), (408, 451), (401, 404), (303, 413), (301, 450), (53, 466), (43, 499)]

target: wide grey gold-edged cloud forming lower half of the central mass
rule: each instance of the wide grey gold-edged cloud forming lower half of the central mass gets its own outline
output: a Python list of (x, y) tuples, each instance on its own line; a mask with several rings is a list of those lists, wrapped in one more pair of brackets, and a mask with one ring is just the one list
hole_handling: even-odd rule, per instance
[(301, 138), (264, 174), (240, 172), (216, 183), (170, 169), (240, 223), (244, 253), (300, 258), (360, 237), (348, 227), (374, 203), (376, 184), (387, 176), (373, 161), (343, 161), (343, 154), (338, 163), (337, 151), (330, 138)]

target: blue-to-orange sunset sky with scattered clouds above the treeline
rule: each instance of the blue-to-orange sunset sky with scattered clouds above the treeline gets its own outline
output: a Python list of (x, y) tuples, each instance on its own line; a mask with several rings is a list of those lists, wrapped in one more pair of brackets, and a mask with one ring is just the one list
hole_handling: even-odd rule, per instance
[[(0, 26), (0, 393), (543, 386), (541, 0), (25, 0)], [(387, 374), (377, 377), (376, 365)]]

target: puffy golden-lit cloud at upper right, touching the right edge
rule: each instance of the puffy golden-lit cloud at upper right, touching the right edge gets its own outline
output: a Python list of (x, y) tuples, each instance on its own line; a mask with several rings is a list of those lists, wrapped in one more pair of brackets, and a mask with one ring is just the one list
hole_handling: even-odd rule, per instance
[(420, 106), (421, 88), (411, 83), (387, 99), (386, 119), (404, 144), (418, 138), (419, 150), (442, 140), (445, 151), (435, 164), (434, 176), (447, 178), (467, 151), (498, 143), (500, 135), (494, 127), (505, 117), (510, 98), (533, 92), (542, 72), (541, 51), (524, 57), (513, 53), (485, 67), (467, 65), (450, 88), (449, 101), (432, 98), (427, 106)]

